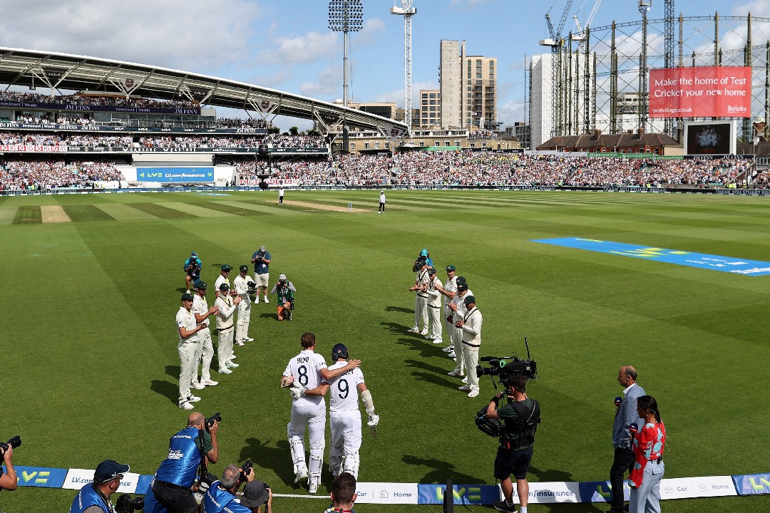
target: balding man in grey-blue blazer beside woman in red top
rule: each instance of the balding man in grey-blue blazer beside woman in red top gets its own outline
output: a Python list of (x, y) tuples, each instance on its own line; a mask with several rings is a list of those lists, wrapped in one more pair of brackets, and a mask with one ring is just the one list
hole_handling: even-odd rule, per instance
[(644, 388), (636, 382), (636, 369), (624, 365), (618, 371), (618, 383), (624, 388), (625, 398), (615, 398), (615, 421), (612, 426), (612, 445), (615, 448), (615, 458), (610, 468), (610, 483), (612, 485), (612, 501), (609, 513), (624, 513), (623, 481), (625, 473), (634, 465), (634, 451), (631, 450), (631, 435), (628, 426), (644, 425), (636, 411), (636, 400), (645, 395)]

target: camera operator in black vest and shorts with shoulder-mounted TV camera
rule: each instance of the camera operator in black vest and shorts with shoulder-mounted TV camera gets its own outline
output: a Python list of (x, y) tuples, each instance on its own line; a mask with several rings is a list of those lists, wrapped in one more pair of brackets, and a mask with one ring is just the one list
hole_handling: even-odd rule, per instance
[[(500, 381), (503, 381), (502, 374)], [(500, 489), (505, 500), (495, 501), (494, 508), (497, 511), (515, 513), (514, 484), (511, 481), (513, 474), (516, 478), (521, 513), (527, 513), (527, 471), (532, 460), (534, 434), (537, 431), (537, 423), (540, 422), (540, 404), (527, 397), (527, 378), (523, 373), (507, 374), (506, 385), (506, 391), (500, 392), (489, 401), (486, 415), (487, 418), (503, 421), (505, 425), (505, 434), (500, 437), (500, 447), (497, 448), (497, 458), (494, 460), (494, 477), (500, 479)], [(500, 399), (506, 393), (509, 402), (500, 406)]]

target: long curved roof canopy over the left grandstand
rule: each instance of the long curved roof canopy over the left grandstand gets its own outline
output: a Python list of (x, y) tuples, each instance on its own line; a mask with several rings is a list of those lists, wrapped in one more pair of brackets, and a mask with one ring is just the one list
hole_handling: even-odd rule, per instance
[(290, 92), (176, 69), (54, 52), (0, 47), (0, 84), (139, 95), (286, 115), (333, 126), (405, 132), (407, 125)]

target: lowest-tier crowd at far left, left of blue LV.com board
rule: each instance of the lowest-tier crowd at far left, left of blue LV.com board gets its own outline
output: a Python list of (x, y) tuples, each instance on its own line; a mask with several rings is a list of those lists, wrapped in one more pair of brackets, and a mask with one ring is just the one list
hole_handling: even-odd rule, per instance
[(65, 163), (61, 160), (27, 159), (0, 161), (0, 190), (90, 188), (95, 182), (123, 180), (109, 162)]

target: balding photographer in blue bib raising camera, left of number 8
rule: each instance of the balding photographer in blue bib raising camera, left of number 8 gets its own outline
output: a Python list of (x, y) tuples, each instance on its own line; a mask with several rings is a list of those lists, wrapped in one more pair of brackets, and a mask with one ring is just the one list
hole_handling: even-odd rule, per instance
[(206, 462), (216, 463), (219, 445), (216, 432), (219, 421), (208, 421), (202, 413), (187, 418), (187, 426), (169, 440), (169, 456), (160, 464), (152, 481), (152, 493), (169, 513), (196, 513), (198, 503), (192, 496), (197, 489), (196, 475)]

